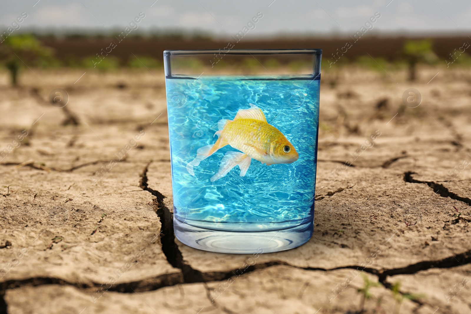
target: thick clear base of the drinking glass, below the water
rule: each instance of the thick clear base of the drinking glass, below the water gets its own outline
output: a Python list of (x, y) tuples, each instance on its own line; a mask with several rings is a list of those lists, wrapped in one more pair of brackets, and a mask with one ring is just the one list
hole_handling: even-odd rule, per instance
[(173, 222), (175, 236), (180, 242), (199, 250), (231, 254), (290, 250), (308, 242), (313, 227), (309, 222), (282, 230), (237, 232), (201, 228), (179, 220)]

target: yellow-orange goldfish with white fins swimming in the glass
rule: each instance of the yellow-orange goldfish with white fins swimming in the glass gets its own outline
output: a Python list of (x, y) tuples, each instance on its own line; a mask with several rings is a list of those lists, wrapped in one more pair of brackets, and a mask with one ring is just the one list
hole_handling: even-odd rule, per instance
[(240, 109), (234, 120), (223, 119), (218, 122), (216, 143), (199, 148), (196, 158), (187, 164), (187, 171), (194, 176), (194, 167), (220, 148), (230, 145), (240, 152), (227, 152), (222, 158), (218, 172), (211, 177), (214, 182), (239, 166), (240, 176), (244, 177), (252, 159), (268, 166), (297, 161), (299, 154), (283, 133), (268, 124), (263, 111), (249, 104), (249, 109)]

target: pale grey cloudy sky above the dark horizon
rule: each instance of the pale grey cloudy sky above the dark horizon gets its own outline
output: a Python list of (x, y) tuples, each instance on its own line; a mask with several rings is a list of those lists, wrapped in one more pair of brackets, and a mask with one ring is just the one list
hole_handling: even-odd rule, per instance
[[(186, 30), (229, 36), (260, 12), (250, 37), (357, 32), (379, 12), (370, 33), (468, 32), (469, 0), (0, 0), (0, 31), (26, 12), (25, 30), (123, 30), (139, 15), (141, 31)], [(259, 14), (260, 15), (260, 14)]]

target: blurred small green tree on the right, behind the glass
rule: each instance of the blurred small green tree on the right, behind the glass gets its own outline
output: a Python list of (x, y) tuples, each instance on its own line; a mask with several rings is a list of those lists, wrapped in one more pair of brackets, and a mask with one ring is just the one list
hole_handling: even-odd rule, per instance
[(431, 40), (407, 40), (402, 49), (409, 67), (409, 81), (415, 81), (416, 68), (419, 62), (432, 64), (437, 55), (432, 50)]

